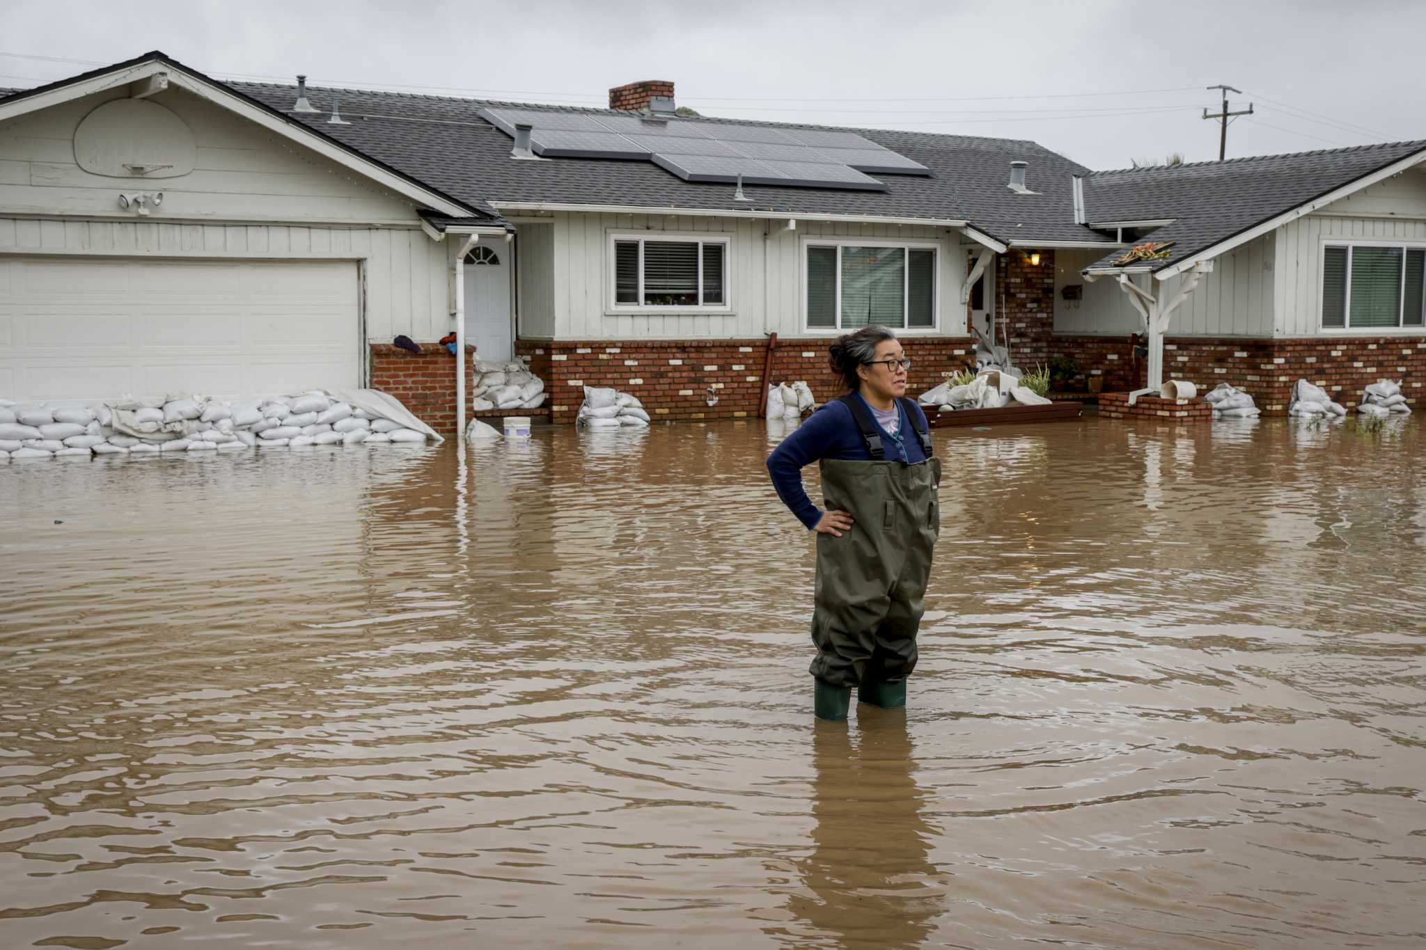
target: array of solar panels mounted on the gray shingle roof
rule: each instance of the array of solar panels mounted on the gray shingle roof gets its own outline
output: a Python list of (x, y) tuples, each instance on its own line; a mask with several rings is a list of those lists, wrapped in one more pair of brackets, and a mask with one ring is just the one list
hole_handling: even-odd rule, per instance
[(633, 113), (563, 113), (482, 108), (479, 115), (515, 135), (532, 125), (543, 158), (653, 161), (686, 181), (886, 191), (866, 172), (930, 175), (920, 162), (856, 132), (773, 128), (737, 122), (647, 117)]

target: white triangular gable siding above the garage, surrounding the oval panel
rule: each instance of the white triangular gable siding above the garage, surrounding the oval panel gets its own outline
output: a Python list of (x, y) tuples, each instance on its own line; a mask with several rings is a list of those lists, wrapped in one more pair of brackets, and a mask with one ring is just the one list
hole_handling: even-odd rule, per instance
[(121, 191), (161, 191), (164, 218), (412, 224), (412, 205), (315, 152), (185, 90), (154, 95), (193, 131), (197, 165), (175, 178), (108, 178), (74, 161), (74, 130), (124, 88), (0, 125), (0, 208), (7, 214), (131, 218)]

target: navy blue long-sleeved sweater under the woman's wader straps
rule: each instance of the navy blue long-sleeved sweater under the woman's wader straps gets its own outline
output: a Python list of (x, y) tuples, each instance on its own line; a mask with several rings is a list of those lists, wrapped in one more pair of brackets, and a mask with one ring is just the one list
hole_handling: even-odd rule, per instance
[[(854, 399), (861, 399), (861, 396), (857, 395)], [(901, 403), (897, 403), (897, 406), (901, 413), (901, 429), (897, 432), (897, 436), (901, 437), (901, 447), (897, 446), (897, 442), (886, 430), (881, 430), (883, 454), (888, 460), (898, 460), (904, 447), (907, 461), (913, 464), (925, 461), (925, 453), (921, 451), (921, 442), (917, 439), (914, 430), (925, 426), (925, 413), (921, 412), (920, 406), (915, 406), (917, 419), (913, 420), (907, 419)], [(867, 412), (870, 414), (870, 407)], [(873, 422), (876, 422), (876, 417), (873, 417)], [(881, 426), (877, 424), (877, 429), (881, 429)], [(809, 530), (817, 527), (817, 521), (821, 520), (823, 513), (807, 497), (807, 491), (801, 486), (801, 470), (803, 466), (819, 459), (871, 461), (867, 443), (861, 439), (861, 429), (857, 427), (857, 420), (851, 416), (851, 410), (841, 400), (833, 400), (821, 406), (793, 434), (783, 439), (783, 443), (773, 450), (773, 454), (767, 456), (767, 473), (773, 477), (773, 487), (777, 489), (777, 497), (783, 500), (783, 504)]]

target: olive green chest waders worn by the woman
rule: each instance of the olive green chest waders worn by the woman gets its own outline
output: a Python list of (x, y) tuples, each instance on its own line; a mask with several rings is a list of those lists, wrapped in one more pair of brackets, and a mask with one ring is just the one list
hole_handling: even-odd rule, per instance
[[(867, 439), (871, 461), (821, 461), (827, 510), (851, 514), (841, 537), (817, 536), (817, 587), (811, 640), (817, 657), (817, 715), (844, 719), (850, 689), (863, 702), (906, 705), (906, 678), (915, 668), (915, 634), (941, 533), (937, 487), (941, 460), (917, 429), (927, 460), (886, 461), (876, 423), (860, 399), (847, 404)], [(907, 409), (908, 419), (917, 419)], [(910, 433), (907, 433), (910, 436)]]

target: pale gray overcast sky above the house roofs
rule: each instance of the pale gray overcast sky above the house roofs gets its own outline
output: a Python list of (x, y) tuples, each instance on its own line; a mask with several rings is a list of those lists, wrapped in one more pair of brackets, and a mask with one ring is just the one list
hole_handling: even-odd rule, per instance
[[(160, 48), (218, 77), (1030, 138), (1091, 168), (1426, 138), (1426, 3), (6, 0), (0, 85)], [(51, 58), (37, 58), (51, 57)]]

